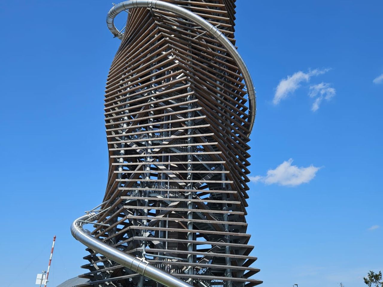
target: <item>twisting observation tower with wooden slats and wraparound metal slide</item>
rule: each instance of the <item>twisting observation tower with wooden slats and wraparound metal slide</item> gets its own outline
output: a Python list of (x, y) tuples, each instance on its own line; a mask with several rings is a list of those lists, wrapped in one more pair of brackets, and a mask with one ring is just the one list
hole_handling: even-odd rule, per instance
[(105, 92), (109, 173), (103, 203), (72, 224), (89, 252), (80, 286), (262, 283), (250, 278), (255, 91), (234, 46), (235, 2), (130, 0), (108, 13), (121, 40)]

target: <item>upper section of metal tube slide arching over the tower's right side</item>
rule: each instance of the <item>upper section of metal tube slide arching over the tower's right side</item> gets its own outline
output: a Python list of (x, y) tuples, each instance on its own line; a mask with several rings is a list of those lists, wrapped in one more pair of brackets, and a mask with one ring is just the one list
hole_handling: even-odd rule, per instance
[(108, 29), (111, 31), (111, 33), (119, 38), (122, 39), (123, 34), (118, 31), (118, 29), (115, 27), (114, 24), (114, 18), (122, 11), (130, 9), (130, 8), (142, 8), (142, 7), (151, 7), (156, 9), (161, 9), (169, 12), (173, 12), (177, 15), (180, 15), (182, 17), (187, 18), (190, 21), (193, 21), (194, 23), (198, 24), (202, 28), (204, 28), (207, 33), (214, 36), (214, 38), (219, 41), (222, 46), (226, 48), (228, 53), (233, 57), (234, 61), (237, 63), (239, 70), (242, 73), (242, 76), (244, 78), (247, 93), (249, 94), (249, 118), (247, 121), (250, 124), (249, 127), (249, 134), (254, 126), (255, 121), (255, 114), (257, 113), (257, 105), (255, 100), (255, 89), (254, 89), (254, 83), (250, 76), (249, 69), (247, 68), (244, 60), (242, 59), (241, 55), (238, 53), (236, 47), (230, 42), (230, 40), (221, 32), (216, 26), (213, 26), (208, 21), (203, 19), (201, 16), (183, 8), (178, 5), (160, 1), (160, 0), (129, 0), (122, 3), (119, 3), (118, 5), (115, 5), (113, 8), (110, 9), (108, 15), (106, 16), (106, 24), (108, 26)]

